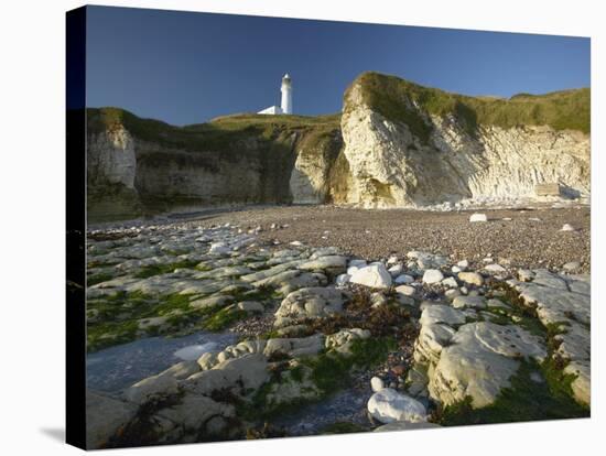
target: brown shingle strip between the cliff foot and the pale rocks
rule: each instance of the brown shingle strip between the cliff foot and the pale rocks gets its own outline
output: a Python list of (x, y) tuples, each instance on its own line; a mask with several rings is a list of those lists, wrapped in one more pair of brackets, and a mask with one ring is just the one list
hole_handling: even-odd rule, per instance
[[(260, 237), (264, 240), (336, 246), (365, 259), (425, 250), (456, 260), (467, 259), (472, 263), (479, 263), (491, 254), (504, 265), (518, 268), (560, 269), (566, 262), (577, 261), (580, 272), (589, 271), (588, 207), (529, 207), (483, 213), (489, 221), (472, 224), (472, 211), (273, 206), (213, 210), (195, 216), (194, 222), (202, 226), (231, 222), (241, 228), (261, 226)], [(271, 229), (272, 224), (288, 227)], [(576, 230), (561, 231), (564, 224), (571, 224)]]

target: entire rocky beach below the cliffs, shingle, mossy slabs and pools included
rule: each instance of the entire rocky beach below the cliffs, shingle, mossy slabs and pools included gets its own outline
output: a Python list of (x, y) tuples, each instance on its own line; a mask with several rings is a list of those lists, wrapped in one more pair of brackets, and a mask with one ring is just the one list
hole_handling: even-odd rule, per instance
[(586, 206), (91, 225), (87, 278), (89, 447), (589, 415)]

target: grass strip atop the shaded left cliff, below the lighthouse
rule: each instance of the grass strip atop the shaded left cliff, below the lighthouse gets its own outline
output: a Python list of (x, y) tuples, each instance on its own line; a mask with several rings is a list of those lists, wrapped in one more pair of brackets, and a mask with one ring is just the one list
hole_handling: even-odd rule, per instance
[(120, 108), (87, 109), (87, 129), (91, 133), (126, 128), (133, 137), (167, 148), (186, 151), (229, 152), (241, 150), (250, 139), (274, 139), (282, 132), (339, 129), (340, 115), (266, 116), (242, 113), (224, 116), (206, 123), (175, 127), (154, 119), (142, 119)]

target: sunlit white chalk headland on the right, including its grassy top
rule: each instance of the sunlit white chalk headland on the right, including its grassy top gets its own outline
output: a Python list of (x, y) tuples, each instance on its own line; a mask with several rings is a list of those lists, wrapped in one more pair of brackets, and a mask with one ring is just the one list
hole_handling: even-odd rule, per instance
[(588, 90), (480, 99), (365, 74), (345, 96), (345, 199), (419, 207), (589, 193)]

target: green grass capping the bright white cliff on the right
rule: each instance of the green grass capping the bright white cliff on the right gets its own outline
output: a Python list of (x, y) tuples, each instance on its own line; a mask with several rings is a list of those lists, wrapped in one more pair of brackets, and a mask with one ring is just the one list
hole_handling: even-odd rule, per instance
[(374, 72), (364, 73), (355, 84), (361, 87), (364, 101), (371, 109), (390, 120), (407, 123), (423, 142), (429, 140), (431, 133), (431, 126), (426, 123), (423, 112), (442, 117), (454, 115), (472, 135), (480, 124), (506, 129), (550, 126), (555, 130), (589, 132), (588, 88), (545, 95), (519, 94), (504, 99), (451, 94)]

